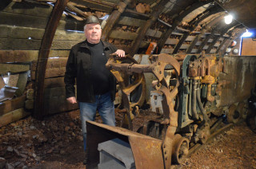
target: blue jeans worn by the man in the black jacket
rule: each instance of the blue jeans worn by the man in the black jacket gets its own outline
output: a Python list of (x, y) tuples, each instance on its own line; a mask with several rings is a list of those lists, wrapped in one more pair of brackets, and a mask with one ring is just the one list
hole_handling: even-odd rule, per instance
[(103, 124), (115, 126), (114, 102), (111, 101), (110, 92), (107, 92), (103, 95), (95, 95), (94, 103), (79, 102), (79, 108), (82, 121), (83, 144), (86, 151), (86, 120), (94, 121), (96, 110), (98, 110)]

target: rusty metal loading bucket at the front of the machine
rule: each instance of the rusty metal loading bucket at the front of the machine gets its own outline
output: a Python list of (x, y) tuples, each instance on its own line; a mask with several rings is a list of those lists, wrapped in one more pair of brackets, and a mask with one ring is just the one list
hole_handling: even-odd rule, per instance
[(162, 140), (131, 132), (125, 128), (98, 124), (93, 121), (86, 121), (86, 128), (86, 148), (88, 148), (86, 169), (98, 168), (98, 144), (116, 138), (130, 144), (136, 169), (164, 168), (161, 149)]

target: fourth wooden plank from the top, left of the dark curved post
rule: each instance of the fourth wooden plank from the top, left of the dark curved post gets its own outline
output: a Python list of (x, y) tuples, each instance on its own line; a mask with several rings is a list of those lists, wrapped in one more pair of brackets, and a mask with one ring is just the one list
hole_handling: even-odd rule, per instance
[(38, 50), (41, 40), (0, 38), (0, 49)]

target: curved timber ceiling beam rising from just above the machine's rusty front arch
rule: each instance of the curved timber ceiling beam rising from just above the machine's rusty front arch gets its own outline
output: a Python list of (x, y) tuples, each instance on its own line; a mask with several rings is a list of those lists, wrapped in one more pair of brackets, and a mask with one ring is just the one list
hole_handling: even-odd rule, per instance
[(188, 6), (189, 8), (185, 11), (181, 11), (182, 14), (180, 14), (177, 18), (174, 19), (174, 24), (172, 27), (166, 30), (165, 33), (162, 33), (162, 36), (160, 37), (160, 41), (158, 42), (158, 52), (162, 50), (162, 47), (165, 45), (167, 39), (170, 37), (170, 34), (173, 33), (174, 29), (182, 22), (183, 18), (186, 17), (186, 15), (190, 14), (192, 11), (198, 9), (201, 6), (204, 6), (210, 2), (214, 1), (205, 1), (205, 2), (196, 2), (192, 6)]

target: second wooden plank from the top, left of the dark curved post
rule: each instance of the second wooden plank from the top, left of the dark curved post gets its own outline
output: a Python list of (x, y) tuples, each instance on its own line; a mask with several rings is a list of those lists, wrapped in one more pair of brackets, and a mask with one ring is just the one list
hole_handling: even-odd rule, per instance
[(24, 26), (31, 28), (46, 28), (46, 24), (48, 22), (48, 18), (36, 17), (33, 15), (23, 15), (23, 14), (12, 14), (6, 12), (0, 12), (0, 18), (8, 18), (8, 19), (0, 19), (0, 25), (8, 25), (8, 26)]

